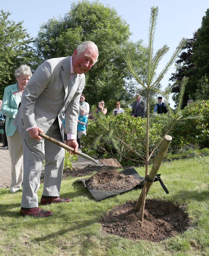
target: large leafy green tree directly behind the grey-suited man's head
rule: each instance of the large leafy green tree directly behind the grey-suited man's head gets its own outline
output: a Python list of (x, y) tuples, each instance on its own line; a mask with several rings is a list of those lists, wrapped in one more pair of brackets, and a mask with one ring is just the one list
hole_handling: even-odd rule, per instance
[[(99, 59), (86, 74), (84, 94), (90, 105), (104, 100), (109, 110), (115, 107), (116, 101), (127, 100), (134, 94), (133, 81), (123, 61), (130, 34), (129, 25), (115, 9), (98, 1), (83, 0), (72, 3), (63, 18), (43, 24), (34, 44), (37, 55), (46, 60), (72, 55), (78, 44), (93, 41), (98, 46)], [(140, 74), (144, 74), (146, 48), (141, 41), (135, 43), (135, 53)]]

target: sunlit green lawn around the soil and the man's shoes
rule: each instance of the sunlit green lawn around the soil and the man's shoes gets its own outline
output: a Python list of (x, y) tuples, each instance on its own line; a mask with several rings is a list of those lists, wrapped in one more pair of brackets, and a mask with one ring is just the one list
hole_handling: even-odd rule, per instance
[[(209, 157), (207, 158), (209, 160)], [(144, 168), (136, 168), (144, 176)], [(76, 178), (62, 181), (62, 197), (72, 203), (44, 207), (53, 211), (48, 218), (22, 217), (22, 192), (0, 190), (0, 255), (73, 255), (73, 256), (188, 256), (209, 255), (208, 170), (193, 159), (164, 162), (159, 170), (169, 190), (153, 183), (148, 198), (186, 205), (190, 228), (161, 243), (128, 240), (100, 233), (100, 221), (106, 211), (129, 200), (137, 200), (141, 190), (132, 190), (100, 202), (95, 201)], [(42, 194), (41, 185), (38, 191)]]

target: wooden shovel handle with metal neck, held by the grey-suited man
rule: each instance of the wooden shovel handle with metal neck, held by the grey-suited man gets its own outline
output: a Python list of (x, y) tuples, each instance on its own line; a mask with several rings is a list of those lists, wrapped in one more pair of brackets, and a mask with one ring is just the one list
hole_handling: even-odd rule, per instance
[[(44, 138), (44, 139), (47, 139), (47, 140), (53, 142), (54, 144), (56, 144), (56, 145), (58, 145), (58, 146), (60, 146), (60, 147), (62, 147), (62, 148), (64, 148), (64, 149), (67, 149), (67, 150), (69, 150), (69, 151), (74, 152), (74, 148), (71, 148), (71, 147), (69, 147), (68, 145), (66, 145), (66, 144), (64, 144), (64, 143), (62, 143), (62, 142), (60, 142), (60, 141), (58, 141), (58, 140), (56, 140), (56, 139), (54, 139), (54, 138), (52, 138), (52, 137), (50, 137), (50, 136), (48, 136), (48, 135), (45, 135), (45, 134), (42, 134), (42, 133), (39, 132), (39, 136), (42, 137), (42, 138)], [(95, 160), (95, 159), (92, 158), (91, 156), (86, 155), (86, 154), (82, 153), (81, 151), (77, 151), (77, 152), (74, 152), (74, 153), (75, 153), (76, 155), (80, 155), (80, 156), (82, 156), (82, 157), (84, 157), (84, 158), (86, 158), (86, 159), (88, 159), (88, 160), (94, 162), (95, 164), (97, 164), (97, 165), (99, 165), (99, 166), (103, 166), (103, 164), (100, 164), (98, 160)]]

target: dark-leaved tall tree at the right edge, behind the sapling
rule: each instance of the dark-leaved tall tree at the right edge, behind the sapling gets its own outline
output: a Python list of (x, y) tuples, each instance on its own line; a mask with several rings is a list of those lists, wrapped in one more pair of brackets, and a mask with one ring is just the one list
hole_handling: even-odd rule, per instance
[[(209, 9), (202, 18), (201, 27), (194, 33), (192, 39), (189, 39), (185, 50), (176, 61), (176, 72), (170, 78), (174, 82), (172, 92), (173, 100), (176, 100), (179, 92), (179, 82), (186, 76), (189, 81), (185, 88), (183, 107), (188, 99), (207, 99), (209, 92), (207, 90), (201, 94), (203, 89), (203, 79), (209, 74)], [(207, 83), (206, 83), (207, 84)], [(198, 97), (197, 97), (198, 94)]]

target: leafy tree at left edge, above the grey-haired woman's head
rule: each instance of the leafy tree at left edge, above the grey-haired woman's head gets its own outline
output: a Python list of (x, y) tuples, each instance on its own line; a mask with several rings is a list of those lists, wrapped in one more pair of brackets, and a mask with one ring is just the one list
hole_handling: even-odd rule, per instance
[(30, 65), (31, 38), (23, 28), (23, 22), (8, 19), (10, 12), (0, 11), (0, 97), (4, 88), (15, 83), (14, 72), (21, 64)]

